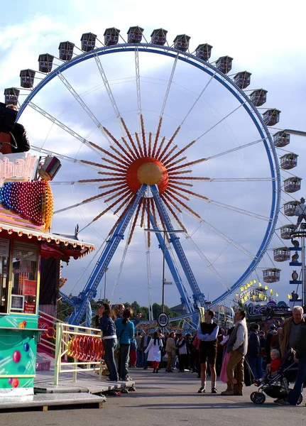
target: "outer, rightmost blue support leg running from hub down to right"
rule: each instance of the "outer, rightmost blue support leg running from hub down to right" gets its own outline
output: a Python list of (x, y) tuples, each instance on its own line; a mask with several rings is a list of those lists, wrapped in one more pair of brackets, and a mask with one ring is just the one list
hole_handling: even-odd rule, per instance
[[(160, 216), (163, 218), (166, 228), (168, 229), (168, 231), (173, 231), (174, 230), (173, 224), (171, 223), (170, 217), (168, 216), (168, 212), (165, 209), (163, 201), (160, 198), (158, 187), (156, 187), (156, 185), (150, 185), (150, 186), (151, 186), (151, 191), (152, 191), (155, 203), (158, 206)], [(182, 249), (182, 246), (180, 244), (180, 239), (174, 234), (173, 236), (170, 236), (170, 241), (173, 244), (175, 253), (177, 254), (177, 258), (180, 261), (182, 269), (186, 275), (186, 278), (192, 290), (192, 297), (195, 301), (195, 305), (196, 306), (200, 305), (204, 307), (205, 301), (206, 301), (205, 296), (203, 293), (201, 293), (199, 285), (197, 285), (197, 280), (195, 279), (195, 275), (193, 275), (192, 273), (190, 264), (188, 263), (185, 252)]]

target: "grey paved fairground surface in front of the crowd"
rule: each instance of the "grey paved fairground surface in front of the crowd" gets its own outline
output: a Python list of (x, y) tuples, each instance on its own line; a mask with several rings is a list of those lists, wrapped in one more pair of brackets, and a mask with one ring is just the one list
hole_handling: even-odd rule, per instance
[[(253, 426), (303, 425), (306, 421), (305, 400), (298, 407), (281, 406), (267, 397), (263, 405), (251, 403), (256, 386), (244, 389), (244, 396), (222, 396), (224, 383), (217, 382), (218, 394), (197, 393), (200, 381), (195, 373), (153, 374), (152, 370), (131, 368), (137, 391), (106, 398), (104, 408), (57, 407), (46, 413), (39, 408), (18, 412), (0, 412), (3, 426)], [(210, 383), (209, 383), (210, 385)]]

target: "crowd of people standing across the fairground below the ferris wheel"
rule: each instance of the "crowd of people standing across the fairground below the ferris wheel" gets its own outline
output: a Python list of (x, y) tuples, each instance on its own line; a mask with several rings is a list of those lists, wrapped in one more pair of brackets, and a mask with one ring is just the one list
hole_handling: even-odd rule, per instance
[(133, 312), (117, 305), (112, 312), (107, 303), (98, 312), (99, 327), (103, 332), (104, 359), (111, 381), (129, 380), (129, 368), (152, 368), (158, 373), (192, 371), (200, 378), (198, 393), (207, 392), (210, 376), (211, 393), (217, 391), (217, 376), (226, 383), (222, 395), (243, 395), (244, 384), (261, 386), (280, 368), (280, 359), (289, 348), (297, 363), (295, 387), (288, 398), (275, 403), (296, 405), (306, 381), (306, 321), (302, 307), (295, 306), (288, 320), (273, 320), (247, 327), (246, 312), (237, 310), (233, 327), (222, 329), (214, 322), (214, 311), (207, 310), (204, 321), (192, 336), (187, 333), (166, 332), (160, 329), (151, 336), (146, 330), (136, 332), (140, 321), (131, 320)]

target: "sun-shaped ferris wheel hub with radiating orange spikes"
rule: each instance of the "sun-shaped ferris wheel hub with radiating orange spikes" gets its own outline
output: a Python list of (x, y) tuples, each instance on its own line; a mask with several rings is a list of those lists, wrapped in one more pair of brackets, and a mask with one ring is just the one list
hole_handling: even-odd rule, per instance
[[(111, 189), (84, 200), (84, 202), (97, 200), (97, 198), (100, 197), (104, 198), (104, 202), (111, 202), (111, 204), (109, 204), (103, 212), (98, 214), (98, 216), (92, 220), (92, 222), (97, 221), (97, 219), (102, 217), (103, 214), (109, 212), (111, 209), (114, 209), (114, 214), (119, 213), (119, 218), (109, 232), (109, 235), (113, 233), (119, 221), (122, 217), (124, 217), (124, 214), (128, 211), (133, 200), (135, 200), (136, 192), (144, 183), (148, 186), (158, 186), (158, 192), (161, 200), (163, 200), (165, 204), (165, 207), (168, 208), (170, 214), (175, 217), (177, 223), (180, 224), (184, 230), (185, 226), (182, 224), (179, 217), (177, 217), (177, 212), (181, 213), (182, 209), (185, 209), (200, 218), (200, 215), (190, 209), (190, 207), (188, 207), (185, 203), (185, 201), (189, 200), (188, 195), (200, 197), (202, 200), (209, 201), (207, 197), (187, 189), (188, 187), (192, 187), (192, 180), (209, 180), (209, 178), (195, 178), (190, 175), (192, 172), (192, 170), (190, 170), (190, 165), (201, 163), (205, 160), (205, 158), (200, 158), (199, 160), (187, 163), (186, 157), (182, 155), (196, 141), (188, 143), (180, 151), (177, 151), (177, 146), (173, 145), (173, 141), (175, 136), (177, 136), (177, 133), (180, 131), (180, 126), (176, 129), (175, 133), (173, 133), (173, 136), (169, 140), (166, 140), (165, 137), (160, 139), (162, 121), (163, 120), (160, 117), (158, 130), (155, 136), (153, 136), (152, 133), (149, 133), (147, 141), (143, 124), (143, 116), (141, 115), (142, 141), (140, 140), (138, 133), (135, 133), (136, 141), (134, 141), (129, 129), (126, 127), (124, 119), (121, 118), (128, 140), (122, 137), (121, 140), (118, 141), (105, 127), (103, 127), (105, 136), (114, 142), (114, 144), (110, 146), (110, 151), (106, 151), (104, 148), (101, 148), (91, 142), (91, 145), (94, 148), (104, 153), (104, 158), (102, 159), (103, 163), (99, 164), (82, 160), (83, 163), (96, 165), (101, 168), (102, 170), (98, 172), (99, 175), (109, 176), (109, 178), (79, 181), (108, 182), (101, 185), (99, 189)], [(151, 214), (155, 224), (157, 224), (157, 218), (159, 217), (160, 223), (165, 229), (163, 218), (160, 215), (153, 197), (146, 193), (136, 209), (131, 233), (129, 235), (129, 243), (131, 242), (133, 231), (136, 223), (138, 222), (138, 217), (140, 218), (141, 227), (146, 222), (146, 226), (150, 228)], [(150, 234), (148, 234), (148, 246), (150, 246)]]

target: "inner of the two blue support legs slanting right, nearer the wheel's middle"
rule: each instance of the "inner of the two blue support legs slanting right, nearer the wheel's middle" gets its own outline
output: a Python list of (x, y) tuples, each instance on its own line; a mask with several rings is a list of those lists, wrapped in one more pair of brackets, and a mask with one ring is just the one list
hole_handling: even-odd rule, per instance
[[(158, 231), (158, 226), (155, 224), (153, 214), (150, 213), (150, 220), (151, 225), (153, 229)], [(163, 251), (163, 237), (160, 235), (160, 233), (156, 232), (156, 238), (158, 239), (159, 248), (161, 251)], [(190, 300), (189, 295), (187, 294), (187, 291), (182, 283), (182, 277), (180, 276), (179, 271), (177, 271), (177, 268), (175, 267), (175, 264), (173, 263), (173, 258), (171, 256), (170, 251), (168, 250), (167, 245), (165, 244), (165, 261), (167, 262), (168, 268), (170, 269), (170, 273), (173, 276), (173, 280), (175, 281), (175, 285), (177, 286), (177, 290), (180, 293), (180, 301), (182, 302), (182, 305), (185, 306), (186, 311), (188, 314), (194, 314), (195, 309), (192, 306), (192, 302)]]

